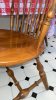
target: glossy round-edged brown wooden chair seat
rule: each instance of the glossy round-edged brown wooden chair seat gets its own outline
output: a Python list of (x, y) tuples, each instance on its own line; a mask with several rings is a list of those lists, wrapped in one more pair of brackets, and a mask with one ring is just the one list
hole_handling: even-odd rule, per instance
[(42, 44), (35, 47), (36, 41), (20, 32), (0, 29), (0, 67), (25, 63), (44, 51)]

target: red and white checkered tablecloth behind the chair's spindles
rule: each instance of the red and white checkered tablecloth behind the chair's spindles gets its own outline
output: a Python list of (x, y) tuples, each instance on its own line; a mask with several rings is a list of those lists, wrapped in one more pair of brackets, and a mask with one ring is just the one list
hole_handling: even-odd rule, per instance
[[(26, 1), (25, 14), (28, 13), (30, 1), (31, 0)], [(46, 0), (43, 0), (41, 13), (43, 12), (43, 8), (45, 6), (45, 1)], [(19, 14), (23, 13), (24, 2), (25, 2), (25, 0), (20, 0)], [(46, 11), (48, 9), (49, 2), (50, 2), (50, 0), (48, 0)], [(11, 14), (11, 11), (10, 11), (11, 3), (12, 3), (12, 0), (0, 0), (0, 15), (10, 15)], [(34, 11), (35, 3), (36, 3), (36, 0), (32, 0), (31, 14)], [(41, 4), (41, 0), (38, 0), (38, 4), (37, 4), (37, 8), (36, 8), (36, 14), (38, 13), (40, 4)], [(14, 0), (14, 14), (17, 14), (17, 8), (18, 8), (18, 0)]]

